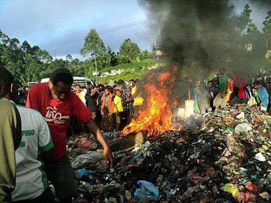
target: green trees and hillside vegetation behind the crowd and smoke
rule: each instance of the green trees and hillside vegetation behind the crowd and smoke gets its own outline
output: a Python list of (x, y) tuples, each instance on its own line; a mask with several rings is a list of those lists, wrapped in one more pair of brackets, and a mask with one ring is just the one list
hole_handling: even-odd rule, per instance
[[(230, 7), (229, 14), (232, 10), (233, 8)], [(202, 50), (199, 46), (193, 46), (198, 43), (195, 39), (195, 42), (186, 45), (188, 47), (182, 47), (183, 50), (171, 50), (173, 54), (168, 52), (167, 55), (161, 56), (161, 61), (153, 59), (147, 50), (141, 51), (138, 45), (129, 38), (115, 53), (109, 46), (105, 46), (94, 29), (89, 31), (80, 50), (80, 54), (86, 60), (73, 59), (70, 54), (66, 56), (66, 59), (53, 60), (47, 51), (41, 50), (38, 46), (31, 47), (27, 41), (21, 44), (18, 39), (10, 39), (0, 30), (0, 66), (7, 67), (20, 86), (30, 81), (39, 82), (42, 78), (49, 77), (50, 73), (59, 67), (68, 68), (75, 75), (80, 74), (91, 79), (96, 79), (93, 76), (96, 68), (100, 75), (122, 70), (118, 75), (100, 77), (101, 82), (107, 82), (110, 79), (137, 79), (152, 67), (167, 66), (166, 58), (171, 54), (174, 55), (175, 51), (182, 52), (183, 63), (180, 65), (182, 65), (184, 76), (205, 77), (210, 74), (210, 71), (213, 72), (220, 67), (225, 67), (230, 72), (235, 69), (246, 72), (257, 71), (260, 68), (270, 69), (271, 59), (264, 58), (264, 55), (266, 50), (271, 50), (269, 45), (271, 11), (267, 13), (263, 21), (262, 31), (259, 31), (252, 22), (250, 14), (249, 5), (245, 5), (239, 16), (232, 16), (233, 27), (228, 28), (228, 33), (236, 35), (234, 38), (228, 39), (224, 30), (211, 29), (215, 23), (210, 22), (208, 24), (211, 26), (210, 29), (206, 27), (198, 31), (204, 33), (200, 35), (204, 37), (204, 40), (201, 40)], [(210, 33), (208, 30), (217, 32)], [(249, 47), (251, 47), (250, 50)]]

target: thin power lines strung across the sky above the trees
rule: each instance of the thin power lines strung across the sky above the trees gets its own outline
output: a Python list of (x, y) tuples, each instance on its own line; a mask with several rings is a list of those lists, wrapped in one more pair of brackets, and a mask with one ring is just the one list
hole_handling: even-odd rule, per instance
[[(99, 31), (98, 34), (103, 35), (103, 34), (115, 32), (115, 31), (118, 31), (118, 30), (122, 30), (122, 29), (125, 29), (125, 28), (129, 28), (129, 27), (132, 27), (132, 26), (143, 24), (143, 23), (145, 23), (145, 22), (147, 22), (149, 20), (152, 20), (152, 19), (163, 18), (163, 17), (166, 17), (166, 16), (168, 16), (168, 13), (163, 14), (163, 15), (159, 15), (159, 16), (155, 16), (155, 17), (151, 17), (151, 18), (148, 18), (148, 19), (144, 19), (144, 20), (141, 20), (141, 21), (136, 21), (136, 22), (133, 22), (133, 23), (128, 23), (128, 24), (125, 24), (125, 25), (117, 26), (117, 27), (114, 27), (114, 28), (102, 30), (102, 31)], [(66, 41), (55, 43), (55, 44), (43, 46), (43, 47), (41, 47), (41, 49), (51, 49), (51, 48), (56, 47), (56, 46), (57, 47), (64, 46), (64, 45), (67, 45), (67, 44), (70, 44), (70, 43), (81, 41), (85, 37), (86, 37), (86, 35), (81, 36), (81, 37), (76, 37), (76, 38), (73, 38), (73, 39), (70, 39), (70, 40), (66, 40)]]

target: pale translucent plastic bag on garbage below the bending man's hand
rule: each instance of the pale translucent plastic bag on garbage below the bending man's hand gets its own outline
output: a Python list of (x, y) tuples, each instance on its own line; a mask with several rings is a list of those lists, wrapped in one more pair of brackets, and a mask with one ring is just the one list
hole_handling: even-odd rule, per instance
[(77, 156), (71, 163), (72, 168), (83, 168), (90, 164), (96, 164), (98, 161), (104, 159), (102, 152), (92, 152), (91, 154), (81, 154)]

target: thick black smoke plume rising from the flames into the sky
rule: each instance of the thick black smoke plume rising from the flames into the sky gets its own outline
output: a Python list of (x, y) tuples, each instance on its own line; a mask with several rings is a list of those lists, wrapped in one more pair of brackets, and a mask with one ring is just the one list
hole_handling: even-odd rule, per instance
[[(262, 7), (270, 2), (251, 3)], [(158, 32), (157, 44), (169, 64), (178, 66), (174, 73), (176, 83), (169, 94), (177, 96), (180, 102), (187, 97), (190, 85), (184, 76), (202, 80), (211, 70), (230, 66), (235, 47), (242, 43), (232, 1), (139, 0), (139, 4), (150, 18), (162, 16), (151, 21), (150, 30)]]

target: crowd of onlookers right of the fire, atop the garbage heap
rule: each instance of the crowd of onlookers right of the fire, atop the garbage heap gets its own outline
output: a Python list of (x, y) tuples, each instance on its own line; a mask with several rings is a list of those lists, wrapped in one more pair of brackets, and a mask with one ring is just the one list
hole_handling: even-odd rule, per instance
[(182, 115), (182, 119), (236, 104), (256, 105), (266, 114), (270, 113), (271, 70), (245, 74), (239, 70), (227, 73), (225, 68), (221, 68), (213, 73), (211, 80), (185, 77), (178, 83), (182, 86), (175, 93), (177, 102), (173, 109), (173, 121), (179, 116), (177, 110), (184, 110), (187, 114)]

